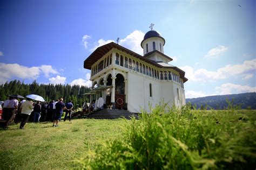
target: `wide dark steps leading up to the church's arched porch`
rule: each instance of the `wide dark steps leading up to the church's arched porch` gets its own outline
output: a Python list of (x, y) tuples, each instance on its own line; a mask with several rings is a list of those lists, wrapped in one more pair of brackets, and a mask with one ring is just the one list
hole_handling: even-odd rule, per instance
[(139, 119), (138, 114), (132, 113), (128, 110), (118, 110), (118, 109), (101, 109), (94, 111), (87, 115), (89, 119), (117, 119), (117, 118), (126, 118), (131, 119), (134, 116), (136, 119)]

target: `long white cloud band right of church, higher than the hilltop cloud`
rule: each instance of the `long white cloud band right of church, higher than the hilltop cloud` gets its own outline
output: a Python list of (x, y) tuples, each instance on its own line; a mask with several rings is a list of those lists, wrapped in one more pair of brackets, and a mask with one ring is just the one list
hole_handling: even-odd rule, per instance
[(256, 70), (256, 59), (244, 61), (240, 65), (226, 65), (215, 72), (204, 68), (195, 70), (191, 66), (180, 67), (186, 72), (186, 77), (190, 81), (216, 81), (226, 79), (231, 76), (245, 76), (244, 79), (250, 79)]

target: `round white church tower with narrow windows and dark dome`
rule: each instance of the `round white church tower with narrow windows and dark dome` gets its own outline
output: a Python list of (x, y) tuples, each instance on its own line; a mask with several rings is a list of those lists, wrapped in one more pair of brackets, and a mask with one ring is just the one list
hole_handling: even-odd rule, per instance
[(147, 32), (142, 40), (142, 43), (140, 43), (140, 46), (143, 48), (144, 55), (155, 50), (164, 53), (164, 45), (165, 39), (154, 30)]

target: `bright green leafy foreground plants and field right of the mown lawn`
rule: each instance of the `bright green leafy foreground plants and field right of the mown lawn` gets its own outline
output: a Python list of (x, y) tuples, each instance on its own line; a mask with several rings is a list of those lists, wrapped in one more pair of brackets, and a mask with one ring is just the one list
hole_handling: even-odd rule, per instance
[(255, 120), (255, 111), (158, 105), (76, 161), (84, 169), (255, 169)]

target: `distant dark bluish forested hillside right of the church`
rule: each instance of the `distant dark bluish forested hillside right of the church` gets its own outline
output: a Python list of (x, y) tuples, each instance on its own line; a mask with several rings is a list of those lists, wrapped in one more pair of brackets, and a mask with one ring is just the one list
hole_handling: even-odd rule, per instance
[(207, 103), (213, 109), (225, 109), (227, 107), (226, 98), (230, 101), (234, 98), (234, 104), (238, 105), (241, 103), (242, 109), (246, 109), (248, 106), (250, 106), (251, 109), (256, 109), (256, 93), (187, 98), (186, 103), (191, 102), (192, 105), (196, 104), (197, 108)]

